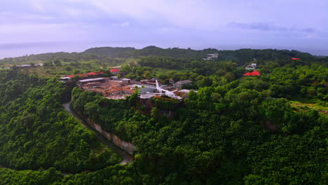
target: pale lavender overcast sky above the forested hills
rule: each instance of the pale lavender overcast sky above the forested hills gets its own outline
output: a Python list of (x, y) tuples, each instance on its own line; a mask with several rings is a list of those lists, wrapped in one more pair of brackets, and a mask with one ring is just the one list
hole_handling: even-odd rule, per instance
[(96, 46), (287, 48), (328, 55), (326, 0), (11, 0), (0, 57)]

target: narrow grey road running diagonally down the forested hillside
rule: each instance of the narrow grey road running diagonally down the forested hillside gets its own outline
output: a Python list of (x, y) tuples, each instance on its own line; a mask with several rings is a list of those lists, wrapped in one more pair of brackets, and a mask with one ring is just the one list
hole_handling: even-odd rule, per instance
[(88, 130), (91, 130), (91, 131), (95, 132), (95, 135), (97, 136), (98, 139), (100, 139), (100, 141), (102, 141), (102, 143), (104, 143), (107, 147), (109, 147), (109, 148), (113, 149), (114, 151), (116, 151), (116, 153), (118, 153), (119, 156), (123, 157), (123, 161), (120, 163), (120, 165), (132, 163), (134, 158), (132, 156), (130, 156), (130, 154), (128, 154), (125, 151), (121, 150), (120, 148), (118, 148), (118, 146), (115, 146), (112, 142), (109, 141), (109, 139), (107, 139), (106, 137), (101, 135), (99, 132), (97, 132), (96, 130), (91, 128), (90, 125), (85, 123), (79, 116), (74, 114), (74, 112), (71, 111), (71, 108), (70, 108), (71, 102), (68, 102), (67, 104), (62, 104), (62, 106), (64, 106), (64, 109), (67, 110), (67, 112), (69, 114), (74, 116), (80, 123), (82, 123), (82, 125), (84, 127), (86, 127)]

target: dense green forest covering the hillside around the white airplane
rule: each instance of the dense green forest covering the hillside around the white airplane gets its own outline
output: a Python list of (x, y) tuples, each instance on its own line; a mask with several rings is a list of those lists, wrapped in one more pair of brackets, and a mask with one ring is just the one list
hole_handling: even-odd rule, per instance
[[(88, 52), (107, 50), (95, 49)], [(245, 49), (203, 61), (201, 52), (184, 57), (193, 50), (177, 48), (112, 51), (107, 57), (139, 58), (123, 65), (125, 77), (190, 79), (184, 88), (193, 90), (182, 102), (153, 98), (144, 107), (137, 93), (109, 100), (23, 69), (2, 71), (0, 164), (11, 169), (0, 169), (0, 184), (328, 183), (327, 58)], [(242, 76), (251, 62), (260, 76)], [(97, 150), (93, 132), (62, 108), (69, 100), (135, 144), (135, 160), (117, 165), (114, 151)]]

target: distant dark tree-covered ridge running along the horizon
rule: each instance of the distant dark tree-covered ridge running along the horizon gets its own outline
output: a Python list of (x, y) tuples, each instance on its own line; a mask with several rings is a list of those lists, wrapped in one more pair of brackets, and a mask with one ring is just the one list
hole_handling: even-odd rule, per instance
[[(147, 46), (142, 49), (135, 48), (89, 48), (81, 53), (43, 53), (38, 55), (25, 55), (22, 57), (6, 57), (0, 60), (1, 65), (7, 64), (37, 64), (39, 62), (60, 60), (62, 62), (98, 62), (99, 64), (115, 65), (128, 61), (128, 59), (139, 60), (142, 57), (171, 57), (175, 60), (185, 60), (186, 66), (192, 61), (200, 61), (207, 54), (218, 53), (217, 61), (232, 61), (238, 64), (245, 64), (256, 60), (258, 63), (270, 60), (287, 60), (291, 57), (301, 57), (303, 60), (322, 60), (327, 62), (328, 57), (314, 57), (309, 53), (302, 53), (297, 50), (217, 50), (207, 48), (204, 50), (192, 50), (191, 48), (158, 48), (156, 46)], [(169, 59), (169, 60), (172, 60)], [(170, 66), (165, 66), (172, 68)]]

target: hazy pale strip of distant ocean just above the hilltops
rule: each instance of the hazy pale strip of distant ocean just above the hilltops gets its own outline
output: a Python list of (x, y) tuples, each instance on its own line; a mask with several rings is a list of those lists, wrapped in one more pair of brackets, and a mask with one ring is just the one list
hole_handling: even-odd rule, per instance
[(112, 42), (112, 41), (87, 41), (87, 42), (67, 42), (67, 43), (56, 43), (56, 42), (44, 42), (44, 43), (0, 43), (0, 59), (4, 57), (20, 57), (23, 55), (32, 55), (32, 54), (40, 54), (40, 53), (55, 53), (55, 52), (82, 52), (88, 48), (95, 47), (135, 47), (135, 48), (144, 48), (146, 46), (158, 46), (161, 48), (192, 48), (196, 50), (201, 50), (203, 48), (216, 48), (218, 50), (237, 50), (240, 48), (254, 48), (254, 49), (287, 49), (287, 50), (299, 50), (302, 52), (311, 53), (312, 55), (324, 55), (328, 56), (327, 50), (320, 49), (308, 49), (308, 48), (292, 48), (292, 47), (275, 47), (275, 46), (189, 46), (185, 44), (184, 46), (175, 45), (172, 43), (172, 46), (168, 46), (167, 44), (161, 45), (156, 43), (128, 43), (128, 42)]

